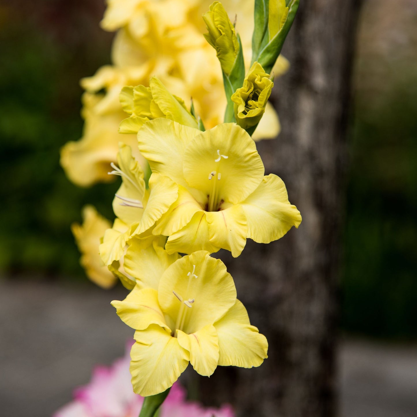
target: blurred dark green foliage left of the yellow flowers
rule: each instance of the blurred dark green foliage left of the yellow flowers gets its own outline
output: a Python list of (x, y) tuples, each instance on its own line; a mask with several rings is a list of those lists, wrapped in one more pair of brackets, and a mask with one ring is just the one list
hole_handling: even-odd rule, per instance
[[(70, 223), (80, 221), (86, 203), (112, 218), (114, 187), (75, 187), (59, 165), (59, 149), (80, 137), (78, 80), (109, 60), (110, 38), (102, 35), (100, 45), (83, 28), (84, 20), (94, 20), (95, 10), (71, 14), (71, 9), (57, 9), (60, 3), (26, 10), (26, 15), (18, 7), (1, 10), (0, 268), (83, 276)], [(102, 12), (95, 13), (95, 31)], [(77, 36), (68, 36), (75, 31)]]

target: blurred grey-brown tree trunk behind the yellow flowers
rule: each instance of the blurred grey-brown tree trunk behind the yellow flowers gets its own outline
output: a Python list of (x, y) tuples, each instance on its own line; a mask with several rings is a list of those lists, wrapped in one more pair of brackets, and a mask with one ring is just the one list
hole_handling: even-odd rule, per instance
[(337, 269), (344, 210), (345, 134), (358, 5), (301, 1), (276, 80), (282, 132), (258, 144), (266, 174), (285, 182), (303, 217), (277, 242), (248, 241), (241, 257), (221, 254), (251, 323), (269, 341), (256, 369), (217, 369), (200, 381), (203, 400), (232, 402), (238, 416), (337, 414)]

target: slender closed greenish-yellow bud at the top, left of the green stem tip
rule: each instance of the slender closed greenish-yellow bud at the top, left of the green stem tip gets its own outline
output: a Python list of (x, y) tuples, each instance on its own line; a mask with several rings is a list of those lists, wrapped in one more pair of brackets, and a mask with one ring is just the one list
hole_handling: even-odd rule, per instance
[(239, 53), (235, 28), (223, 5), (218, 1), (211, 4), (210, 10), (203, 14), (203, 19), (208, 30), (204, 37), (216, 49), (221, 69), (229, 75)]

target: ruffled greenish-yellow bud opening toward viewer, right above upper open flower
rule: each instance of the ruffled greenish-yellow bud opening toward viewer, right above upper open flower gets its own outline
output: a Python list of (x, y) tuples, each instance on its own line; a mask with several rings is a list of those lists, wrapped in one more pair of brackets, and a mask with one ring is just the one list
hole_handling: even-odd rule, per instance
[(231, 96), (236, 123), (239, 126), (245, 130), (256, 127), (265, 112), (273, 86), (269, 74), (264, 71), (261, 64), (254, 62), (243, 86)]

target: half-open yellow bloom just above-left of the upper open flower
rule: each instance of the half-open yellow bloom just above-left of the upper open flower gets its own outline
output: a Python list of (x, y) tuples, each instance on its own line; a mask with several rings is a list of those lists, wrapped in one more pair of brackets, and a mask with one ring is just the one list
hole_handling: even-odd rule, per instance
[(138, 133), (141, 126), (148, 120), (164, 117), (186, 126), (197, 128), (194, 116), (187, 110), (184, 101), (173, 96), (153, 76), (149, 87), (123, 87), (120, 93), (123, 110), (131, 116), (121, 121), (119, 133)]

